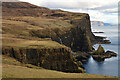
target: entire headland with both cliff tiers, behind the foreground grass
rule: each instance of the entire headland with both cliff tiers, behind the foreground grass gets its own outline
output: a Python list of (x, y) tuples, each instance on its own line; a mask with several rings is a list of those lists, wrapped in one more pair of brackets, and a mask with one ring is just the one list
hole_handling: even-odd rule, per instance
[(2, 54), (23, 64), (84, 73), (82, 63), (75, 61), (71, 52), (88, 53), (101, 40), (91, 32), (89, 15), (85, 13), (51, 10), (26, 2), (3, 2), (2, 14)]

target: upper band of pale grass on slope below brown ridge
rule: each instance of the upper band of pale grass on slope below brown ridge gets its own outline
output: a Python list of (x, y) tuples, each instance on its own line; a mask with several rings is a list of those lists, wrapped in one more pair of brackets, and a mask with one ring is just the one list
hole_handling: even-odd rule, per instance
[[(35, 28), (64, 28), (64, 27), (71, 27), (72, 25), (68, 21), (60, 20), (60, 19), (48, 19), (43, 17), (14, 17), (14, 18), (8, 18), (4, 20), (4, 23), (10, 23), (14, 25), (20, 25), (20, 24), (26, 24), (26, 27), (29, 26), (35, 26)], [(28, 28), (28, 29), (29, 29)]]

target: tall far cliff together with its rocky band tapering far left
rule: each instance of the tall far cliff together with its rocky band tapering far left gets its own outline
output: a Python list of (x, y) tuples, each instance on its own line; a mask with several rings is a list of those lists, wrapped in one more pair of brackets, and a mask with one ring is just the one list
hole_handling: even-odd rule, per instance
[(85, 14), (83, 18), (72, 19), (69, 22), (72, 27), (32, 30), (30, 34), (40, 38), (51, 38), (53, 41), (70, 47), (73, 51), (91, 51), (95, 36), (91, 32), (89, 15)]

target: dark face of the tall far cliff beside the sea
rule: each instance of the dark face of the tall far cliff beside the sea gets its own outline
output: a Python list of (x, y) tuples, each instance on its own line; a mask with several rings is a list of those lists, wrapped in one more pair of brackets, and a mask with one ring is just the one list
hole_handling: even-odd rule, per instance
[(89, 15), (84, 16), (82, 19), (71, 20), (70, 23), (73, 27), (70, 30), (66, 29), (65, 34), (58, 35), (53, 40), (71, 47), (73, 51), (91, 51), (91, 42), (95, 36), (91, 32)]

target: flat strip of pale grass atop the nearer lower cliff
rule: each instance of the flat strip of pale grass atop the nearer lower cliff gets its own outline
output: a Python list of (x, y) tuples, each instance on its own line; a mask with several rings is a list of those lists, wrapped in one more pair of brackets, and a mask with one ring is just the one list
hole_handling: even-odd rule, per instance
[[(6, 38), (5, 38), (6, 39)], [(30, 47), (30, 48), (59, 48), (65, 47), (55, 41), (46, 40), (46, 41), (38, 41), (38, 40), (25, 40), (25, 39), (17, 39), (17, 38), (8, 38), (3, 39), (3, 47), (11, 46), (11, 47)]]

